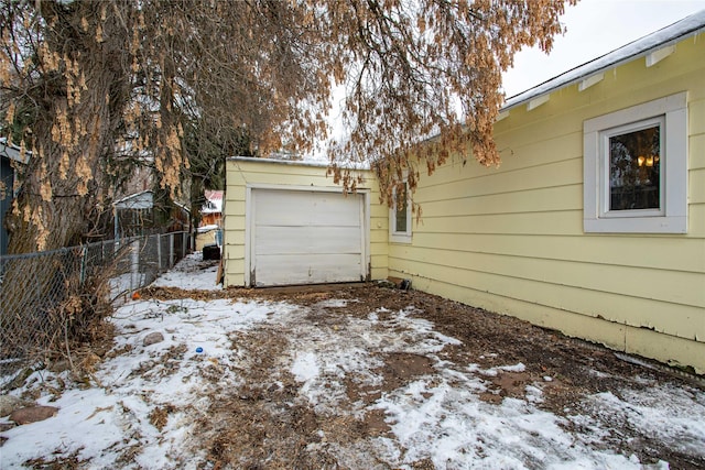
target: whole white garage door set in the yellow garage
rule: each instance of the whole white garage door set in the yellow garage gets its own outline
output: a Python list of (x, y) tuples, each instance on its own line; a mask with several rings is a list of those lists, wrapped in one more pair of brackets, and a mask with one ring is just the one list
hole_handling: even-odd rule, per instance
[(250, 285), (365, 278), (361, 194), (252, 189)]

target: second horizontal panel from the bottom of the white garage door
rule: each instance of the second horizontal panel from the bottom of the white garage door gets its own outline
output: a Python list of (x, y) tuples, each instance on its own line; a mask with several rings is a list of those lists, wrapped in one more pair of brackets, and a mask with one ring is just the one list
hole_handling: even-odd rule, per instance
[(358, 227), (258, 227), (256, 254), (360, 253)]

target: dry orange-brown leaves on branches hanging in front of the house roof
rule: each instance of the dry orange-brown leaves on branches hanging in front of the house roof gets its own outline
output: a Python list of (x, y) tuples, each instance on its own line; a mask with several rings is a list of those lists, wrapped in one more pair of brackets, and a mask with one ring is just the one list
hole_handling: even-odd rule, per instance
[[(536, 0), (352, 1), (330, 8), (338, 51), (336, 80), (347, 88), (349, 140), (329, 151), (330, 173), (346, 189), (359, 183), (348, 162), (371, 162), (390, 206), (400, 182), (413, 192), (421, 173), (473, 155), (500, 156), (492, 127), (503, 102), (501, 73), (524, 45), (551, 48), (563, 31), (564, 2)], [(344, 72), (341, 73), (340, 69)]]

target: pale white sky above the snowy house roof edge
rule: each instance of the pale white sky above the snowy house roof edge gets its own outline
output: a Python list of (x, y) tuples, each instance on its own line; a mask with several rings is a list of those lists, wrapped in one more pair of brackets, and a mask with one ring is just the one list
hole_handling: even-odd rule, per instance
[(582, 0), (566, 6), (563, 36), (551, 55), (538, 47), (514, 56), (502, 79), (507, 98), (532, 88), (593, 58), (646, 36), (697, 11), (705, 0)]

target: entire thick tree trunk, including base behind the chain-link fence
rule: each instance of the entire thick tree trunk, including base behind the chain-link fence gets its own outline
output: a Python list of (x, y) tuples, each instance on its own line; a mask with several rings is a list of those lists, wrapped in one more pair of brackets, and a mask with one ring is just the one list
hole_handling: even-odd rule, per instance
[[(59, 57), (55, 61), (61, 65), (36, 79), (39, 91), (32, 98), (40, 109), (32, 125), (32, 155), (6, 218), (10, 254), (79, 244), (91, 214), (100, 210), (105, 156), (113, 149), (130, 85), (126, 33), (106, 6), (37, 2), (52, 25), (43, 40), (56, 52), (41, 59), (51, 68), (51, 57)], [(93, 31), (86, 31), (86, 21)], [(80, 254), (75, 251), (12, 259), (2, 266), (0, 358), (26, 357), (63, 339), (80, 295), (97, 295), (80, 292)]]

